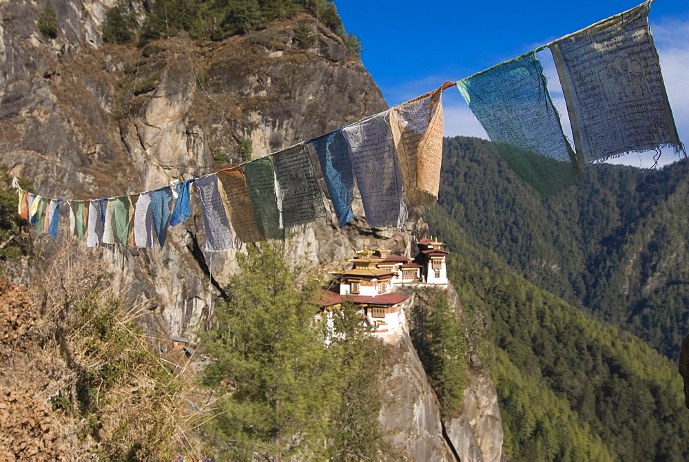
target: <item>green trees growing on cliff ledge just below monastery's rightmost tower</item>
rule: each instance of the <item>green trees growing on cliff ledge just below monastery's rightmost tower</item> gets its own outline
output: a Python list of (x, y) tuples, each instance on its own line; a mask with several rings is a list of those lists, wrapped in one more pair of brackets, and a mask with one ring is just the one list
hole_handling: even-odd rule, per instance
[(464, 328), (438, 288), (417, 291), (412, 341), (438, 395), (445, 417), (457, 417), (462, 410), (466, 384), (466, 342)]

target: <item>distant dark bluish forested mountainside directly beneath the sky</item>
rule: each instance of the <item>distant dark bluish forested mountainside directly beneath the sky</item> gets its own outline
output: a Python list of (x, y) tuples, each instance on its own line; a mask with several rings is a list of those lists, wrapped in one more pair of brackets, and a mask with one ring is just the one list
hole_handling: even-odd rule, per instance
[(689, 169), (584, 169), (542, 198), (478, 138), (446, 138), (439, 204), (526, 279), (676, 359), (689, 333)]

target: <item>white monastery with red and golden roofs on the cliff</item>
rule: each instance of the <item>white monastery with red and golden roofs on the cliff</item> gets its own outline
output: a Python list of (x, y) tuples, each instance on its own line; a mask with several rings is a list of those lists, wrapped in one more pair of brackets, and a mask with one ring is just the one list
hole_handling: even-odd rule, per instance
[(336, 273), (339, 287), (325, 291), (318, 317), (325, 315), (332, 326), (333, 309), (343, 300), (359, 307), (362, 320), (373, 328), (373, 335), (386, 337), (404, 327), (404, 303), (409, 297), (395, 293), (395, 286), (447, 286), (445, 244), (437, 239), (422, 239), (420, 252), (412, 261), (393, 255), (388, 249), (363, 249), (349, 260), (353, 268)]

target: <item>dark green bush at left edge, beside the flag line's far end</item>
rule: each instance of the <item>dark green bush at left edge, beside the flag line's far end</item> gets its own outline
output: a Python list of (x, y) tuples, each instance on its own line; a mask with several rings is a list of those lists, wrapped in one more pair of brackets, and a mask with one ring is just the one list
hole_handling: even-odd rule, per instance
[[(0, 165), (0, 260), (16, 260), (32, 252), (29, 222), (17, 213), (19, 197), (11, 185), (10, 169)], [(31, 182), (20, 179), (19, 186), (30, 189)]]

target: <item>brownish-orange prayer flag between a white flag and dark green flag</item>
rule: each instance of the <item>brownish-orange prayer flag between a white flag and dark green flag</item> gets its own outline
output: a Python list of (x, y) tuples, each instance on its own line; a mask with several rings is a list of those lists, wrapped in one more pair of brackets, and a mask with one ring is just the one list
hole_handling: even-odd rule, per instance
[(258, 229), (251, 199), (247, 189), (247, 180), (241, 167), (232, 167), (216, 172), (220, 196), (223, 197), (225, 210), (237, 238), (242, 242), (258, 242), (263, 235)]

